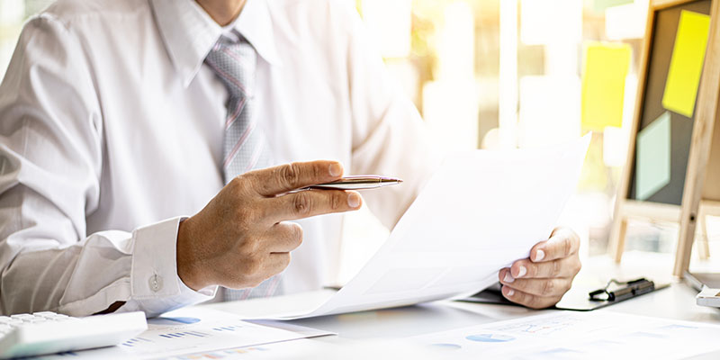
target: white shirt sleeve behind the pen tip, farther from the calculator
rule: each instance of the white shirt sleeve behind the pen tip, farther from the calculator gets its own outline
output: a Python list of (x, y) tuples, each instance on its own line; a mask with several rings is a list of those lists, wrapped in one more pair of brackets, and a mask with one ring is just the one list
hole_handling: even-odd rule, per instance
[(363, 193), (367, 205), (392, 229), (439, 163), (425, 122), (389, 75), (354, 9), (348, 25), (347, 74), (353, 116), (352, 174), (397, 176), (403, 183)]

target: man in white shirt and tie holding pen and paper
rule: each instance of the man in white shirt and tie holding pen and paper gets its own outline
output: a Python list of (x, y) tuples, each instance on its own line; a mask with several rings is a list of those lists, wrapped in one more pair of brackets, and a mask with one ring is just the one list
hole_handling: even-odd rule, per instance
[[(365, 193), (392, 227), (431, 163), (419, 114), (340, 0), (60, 0), (25, 25), (0, 120), (4, 314), (153, 316), (319, 289), (341, 218), (315, 216), (363, 200), (288, 192), (341, 163), (400, 176)], [(503, 293), (554, 304), (577, 247), (555, 231), (500, 272)]]

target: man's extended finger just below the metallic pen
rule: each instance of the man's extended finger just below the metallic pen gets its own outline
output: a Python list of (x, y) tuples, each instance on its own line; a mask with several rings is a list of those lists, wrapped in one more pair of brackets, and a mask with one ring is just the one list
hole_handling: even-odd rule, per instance
[(266, 199), (266, 216), (275, 221), (299, 220), (360, 209), (360, 193), (343, 190), (308, 190)]

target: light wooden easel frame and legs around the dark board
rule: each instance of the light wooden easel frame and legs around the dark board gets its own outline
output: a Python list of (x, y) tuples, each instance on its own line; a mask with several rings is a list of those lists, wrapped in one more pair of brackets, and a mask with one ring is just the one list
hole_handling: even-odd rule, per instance
[[(720, 127), (715, 129), (717, 119), (720, 119), (720, 0), (713, 0), (710, 7), (710, 34), (707, 39), (706, 58), (703, 66), (703, 75), (698, 88), (698, 104), (695, 111), (688, 168), (686, 170), (685, 187), (682, 194), (682, 205), (667, 205), (654, 202), (639, 202), (627, 199), (630, 179), (633, 175), (635, 162), (635, 139), (639, 130), (641, 115), (643, 113), (643, 100), (645, 85), (648, 76), (650, 50), (653, 46), (653, 29), (655, 13), (663, 9), (693, 3), (696, 0), (651, 0), (648, 10), (647, 27), (645, 29), (644, 49), (641, 57), (638, 91), (635, 99), (635, 114), (630, 132), (630, 143), (627, 152), (627, 161), (620, 184), (617, 189), (615, 217), (610, 237), (610, 252), (616, 262), (620, 262), (625, 251), (627, 220), (640, 218), (651, 221), (680, 222), (680, 238), (675, 253), (673, 275), (682, 277), (688, 270), (693, 239), (698, 219), (704, 226), (706, 215), (720, 214), (720, 202), (706, 202), (703, 185), (706, 182), (707, 166), (710, 161), (713, 138), (720, 136)], [(715, 136), (714, 136), (715, 134)], [(720, 146), (720, 141), (715, 141)], [(718, 159), (720, 160), (720, 159)], [(720, 166), (720, 164), (718, 164)], [(711, 175), (712, 177), (712, 175)], [(716, 184), (720, 186), (720, 184)], [(711, 200), (711, 199), (707, 199)], [(718, 199), (715, 199), (718, 200)], [(706, 203), (702, 206), (701, 202)], [(698, 213), (699, 211), (699, 213)], [(698, 215), (702, 215), (698, 217)], [(701, 218), (701, 219), (700, 219)], [(700, 244), (700, 255), (707, 257), (707, 241)]]

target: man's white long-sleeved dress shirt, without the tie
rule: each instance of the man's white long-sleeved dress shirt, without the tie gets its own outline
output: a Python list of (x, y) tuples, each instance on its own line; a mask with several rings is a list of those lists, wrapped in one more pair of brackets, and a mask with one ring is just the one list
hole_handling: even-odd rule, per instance
[[(413, 104), (342, 0), (248, 0), (256, 112), (275, 164), (397, 175), (365, 193), (392, 227), (431, 162)], [(26, 23), (0, 85), (0, 311), (148, 316), (202, 302), (177, 276), (180, 219), (223, 186), (228, 94), (203, 65), (222, 31), (192, 0), (59, 0)], [(285, 293), (337, 269), (341, 215), (299, 221)]]

